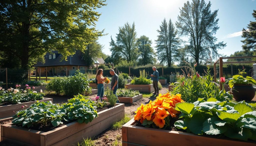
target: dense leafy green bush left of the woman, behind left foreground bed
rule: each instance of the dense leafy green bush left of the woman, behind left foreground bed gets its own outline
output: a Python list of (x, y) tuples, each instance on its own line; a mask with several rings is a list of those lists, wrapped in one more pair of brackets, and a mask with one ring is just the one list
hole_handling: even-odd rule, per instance
[(87, 74), (76, 71), (74, 76), (56, 77), (47, 84), (47, 91), (55, 91), (56, 94), (77, 95), (91, 93)]

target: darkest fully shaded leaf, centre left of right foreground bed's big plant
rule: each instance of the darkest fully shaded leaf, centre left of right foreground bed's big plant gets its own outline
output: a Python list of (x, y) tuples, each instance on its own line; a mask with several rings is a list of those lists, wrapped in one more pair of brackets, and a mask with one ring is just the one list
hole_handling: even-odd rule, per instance
[(204, 121), (205, 119), (201, 114), (195, 114), (188, 124), (189, 130), (191, 130), (191, 132), (194, 134), (202, 134)]

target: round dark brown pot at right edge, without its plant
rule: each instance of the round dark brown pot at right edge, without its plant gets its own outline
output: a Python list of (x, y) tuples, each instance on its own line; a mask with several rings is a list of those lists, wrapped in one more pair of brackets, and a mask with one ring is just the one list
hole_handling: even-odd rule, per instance
[(252, 84), (234, 84), (231, 92), (236, 100), (251, 101), (255, 95), (255, 90), (252, 87)]

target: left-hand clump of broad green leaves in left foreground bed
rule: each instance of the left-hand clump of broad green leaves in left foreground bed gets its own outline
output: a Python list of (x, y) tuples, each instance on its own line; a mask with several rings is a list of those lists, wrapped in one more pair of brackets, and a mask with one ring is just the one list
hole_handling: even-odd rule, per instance
[(12, 123), (27, 126), (28, 128), (35, 124), (47, 125), (51, 123), (53, 126), (63, 124), (63, 120), (68, 121), (66, 109), (51, 101), (38, 102), (30, 105), (25, 110), (20, 110), (14, 116)]

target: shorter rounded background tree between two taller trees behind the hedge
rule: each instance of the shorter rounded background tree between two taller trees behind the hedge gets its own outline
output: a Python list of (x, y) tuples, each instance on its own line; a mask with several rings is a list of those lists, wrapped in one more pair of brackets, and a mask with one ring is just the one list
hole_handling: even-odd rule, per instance
[(152, 41), (147, 36), (141, 36), (137, 39), (137, 48), (139, 49), (139, 65), (154, 64), (156, 62), (156, 53), (151, 47)]

